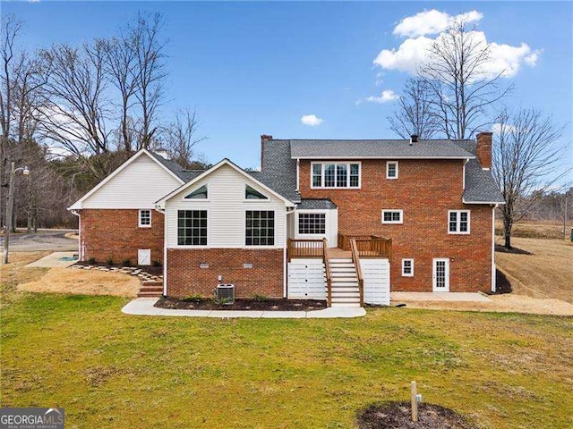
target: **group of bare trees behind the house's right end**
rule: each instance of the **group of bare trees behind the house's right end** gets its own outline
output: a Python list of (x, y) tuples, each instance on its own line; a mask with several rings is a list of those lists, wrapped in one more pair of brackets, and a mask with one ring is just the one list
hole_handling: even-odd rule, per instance
[(505, 71), (492, 74), (492, 61), (492, 44), (478, 38), (464, 17), (454, 20), (406, 81), (387, 119), (403, 139), (469, 139), (494, 131), (492, 173), (505, 199), (500, 214), (505, 247), (511, 248), (514, 223), (539, 210), (571, 167), (562, 164), (564, 125), (540, 109), (505, 105), (514, 87), (504, 83)]

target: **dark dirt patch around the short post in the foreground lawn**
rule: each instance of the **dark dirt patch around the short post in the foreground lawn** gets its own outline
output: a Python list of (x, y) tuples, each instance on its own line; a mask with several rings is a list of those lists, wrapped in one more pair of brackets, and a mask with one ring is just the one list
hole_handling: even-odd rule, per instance
[(408, 402), (389, 402), (383, 405), (372, 405), (358, 415), (360, 429), (475, 429), (449, 408), (439, 405), (420, 404), (418, 421), (413, 422)]

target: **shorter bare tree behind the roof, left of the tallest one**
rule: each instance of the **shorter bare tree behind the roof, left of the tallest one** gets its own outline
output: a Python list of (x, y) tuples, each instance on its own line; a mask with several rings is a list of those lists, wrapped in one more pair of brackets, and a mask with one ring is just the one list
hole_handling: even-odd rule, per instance
[(398, 101), (398, 109), (388, 118), (390, 130), (402, 139), (413, 134), (432, 139), (439, 130), (438, 117), (432, 112), (432, 88), (426, 80), (409, 79)]

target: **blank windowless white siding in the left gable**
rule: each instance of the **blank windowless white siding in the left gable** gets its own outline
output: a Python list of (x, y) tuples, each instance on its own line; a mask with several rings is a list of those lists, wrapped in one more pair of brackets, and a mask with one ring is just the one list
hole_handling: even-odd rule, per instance
[(150, 208), (181, 183), (161, 165), (141, 154), (90, 197), (81, 208)]

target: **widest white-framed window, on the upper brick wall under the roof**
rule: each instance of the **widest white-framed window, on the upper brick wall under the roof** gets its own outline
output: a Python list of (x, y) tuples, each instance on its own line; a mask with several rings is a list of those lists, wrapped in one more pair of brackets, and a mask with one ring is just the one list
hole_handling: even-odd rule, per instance
[(360, 188), (360, 163), (312, 163), (311, 188)]

